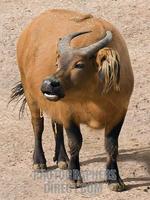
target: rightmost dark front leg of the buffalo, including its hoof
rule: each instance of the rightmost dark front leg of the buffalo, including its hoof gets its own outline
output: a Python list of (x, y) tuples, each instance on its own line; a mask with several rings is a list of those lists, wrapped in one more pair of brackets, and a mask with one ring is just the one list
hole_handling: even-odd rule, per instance
[(111, 131), (106, 128), (105, 132), (105, 148), (108, 154), (106, 165), (106, 179), (111, 190), (123, 191), (125, 185), (120, 178), (117, 156), (118, 156), (118, 137), (123, 125), (122, 119)]

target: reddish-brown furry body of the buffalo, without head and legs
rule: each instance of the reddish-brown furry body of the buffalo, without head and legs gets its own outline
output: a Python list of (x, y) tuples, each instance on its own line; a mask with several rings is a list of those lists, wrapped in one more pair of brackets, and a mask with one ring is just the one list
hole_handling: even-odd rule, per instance
[[(81, 19), (81, 20), (79, 20)], [(98, 64), (93, 65), (86, 88), (58, 102), (48, 101), (41, 93), (43, 79), (56, 72), (57, 43), (60, 37), (72, 32), (89, 31), (75, 38), (73, 47), (84, 47), (104, 37), (110, 30), (113, 40), (109, 47), (120, 56), (120, 92), (110, 91), (102, 95), (103, 84), (98, 78)], [(98, 52), (99, 53), (99, 52)], [(98, 55), (97, 53), (97, 55)], [(32, 118), (38, 118), (40, 110), (67, 127), (73, 118), (93, 128), (107, 127), (108, 131), (125, 115), (133, 89), (133, 73), (126, 44), (120, 33), (103, 19), (67, 10), (49, 10), (33, 20), (22, 33), (17, 46), (18, 65), (27, 103)], [(89, 74), (90, 74), (89, 73)], [(87, 92), (88, 91), (88, 92)]]

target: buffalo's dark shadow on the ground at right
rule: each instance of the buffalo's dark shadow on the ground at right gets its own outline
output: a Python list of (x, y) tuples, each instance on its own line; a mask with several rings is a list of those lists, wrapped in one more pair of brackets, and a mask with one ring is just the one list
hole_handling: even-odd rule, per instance
[[(143, 163), (143, 165), (146, 167), (147, 170), (147, 177), (143, 176), (133, 176), (125, 178), (125, 182), (131, 182), (127, 185), (128, 190), (133, 189), (133, 188), (139, 188), (142, 186), (150, 186), (150, 147), (145, 147), (145, 148), (132, 148), (132, 149), (121, 149), (119, 151), (119, 162), (125, 162), (128, 161), (134, 161), (137, 163)], [(90, 163), (97, 163), (97, 162), (106, 162), (106, 154), (101, 153), (95, 155), (95, 158), (85, 160), (81, 162), (81, 165), (88, 165)], [(135, 168), (136, 169), (136, 168)], [(134, 173), (133, 173), (134, 174)], [(99, 183), (102, 183), (104, 181), (99, 181)], [(132, 183), (132, 182), (137, 182), (137, 183)], [(96, 184), (96, 182), (87, 182), (87, 184)]]

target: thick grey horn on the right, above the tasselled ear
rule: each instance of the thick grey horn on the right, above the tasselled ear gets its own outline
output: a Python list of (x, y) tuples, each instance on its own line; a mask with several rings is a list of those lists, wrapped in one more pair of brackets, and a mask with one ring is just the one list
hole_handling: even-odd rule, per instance
[(82, 51), (85, 55), (91, 56), (95, 54), (99, 49), (105, 47), (111, 40), (112, 33), (110, 31), (106, 31), (106, 36), (103, 39), (94, 44), (89, 45), (88, 47), (80, 48), (80, 51)]

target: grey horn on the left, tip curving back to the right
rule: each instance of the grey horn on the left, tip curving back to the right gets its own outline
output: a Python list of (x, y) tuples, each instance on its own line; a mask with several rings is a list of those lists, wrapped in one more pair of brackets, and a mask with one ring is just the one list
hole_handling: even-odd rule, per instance
[(70, 42), (73, 38), (85, 34), (85, 33), (90, 33), (91, 31), (84, 31), (84, 32), (75, 32), (75, 33), (71, 33), (67, 36), (65, 36), (64, 38), (60, 38), (60, 41), (58, 43), (58, 51), (60, 54), (64, 53), (65, 51), (68, 51), (69, 49), (72, 49), (70, 47)]

